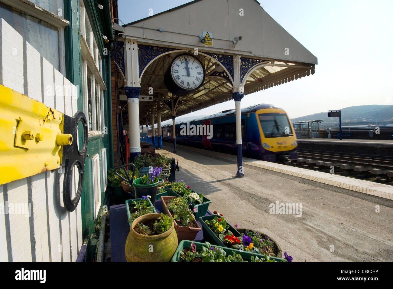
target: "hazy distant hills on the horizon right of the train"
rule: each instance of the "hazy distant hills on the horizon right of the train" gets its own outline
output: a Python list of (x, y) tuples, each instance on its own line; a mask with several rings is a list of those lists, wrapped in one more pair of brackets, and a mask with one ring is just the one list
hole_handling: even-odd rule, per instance
[[(320, 112), (292, 118), (291, 121), (323, 120), (323, 124), (338, 123), (338, 118), (328, 118), (327, 112)], [(341, 109), (341, 121), (393, 121), (393, 105), (357, 105)], [(322, 125), (322, 124), (321, 124)]]

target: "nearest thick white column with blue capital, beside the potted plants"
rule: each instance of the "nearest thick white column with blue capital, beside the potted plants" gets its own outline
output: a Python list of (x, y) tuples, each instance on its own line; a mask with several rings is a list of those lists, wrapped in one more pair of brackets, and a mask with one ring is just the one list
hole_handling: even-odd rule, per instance
[[(140, 87), (125, 87), (128, 102), (128, 124), (130, 135), (130, 159), (133, 162), (141, 154), (140, 126), (139, 126), (139, 94)], [(143, 128), (143, 126), (142, 126)]]

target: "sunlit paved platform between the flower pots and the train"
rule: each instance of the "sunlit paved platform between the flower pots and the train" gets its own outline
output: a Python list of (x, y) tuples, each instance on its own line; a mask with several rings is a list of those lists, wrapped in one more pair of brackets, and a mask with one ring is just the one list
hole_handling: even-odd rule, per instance
[[(172, 146), (156, 153), (178, 161), (176, 178), (206, 195), (210, 211), (267, 234), (294, 261), (392, 260), (392, 186), (250, 158), (239, 179), (235, 155)], [(301, 214), (271, 214), (277, 202), (301, 204)]]

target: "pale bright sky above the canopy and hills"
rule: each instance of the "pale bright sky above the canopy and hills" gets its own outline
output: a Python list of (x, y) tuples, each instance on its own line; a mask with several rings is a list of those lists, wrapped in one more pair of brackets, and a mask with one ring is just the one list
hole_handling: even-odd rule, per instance
[[(119, 0), (119, 19), (129, 23), (148, 17), (149, 9), (157, 14), (188, 2)], [(318, 64), (314, 75), (244, 96), (242, 108), (272, 103), (297, 118), (355, 105), (393, 104), (393, 1), (259, 2)], [(227, 101), (186, 116), (234, 108), (234, 101)]]

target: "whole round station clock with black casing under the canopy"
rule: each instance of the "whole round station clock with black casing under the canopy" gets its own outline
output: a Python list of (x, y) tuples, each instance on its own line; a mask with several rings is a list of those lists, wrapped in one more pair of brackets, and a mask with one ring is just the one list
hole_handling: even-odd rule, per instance
[(169, 92), (186, 96), (202, 86), (205, 69), (202, 62), (191, 54), (176, 56), (164, 75), (164, 83)]

